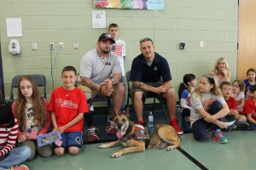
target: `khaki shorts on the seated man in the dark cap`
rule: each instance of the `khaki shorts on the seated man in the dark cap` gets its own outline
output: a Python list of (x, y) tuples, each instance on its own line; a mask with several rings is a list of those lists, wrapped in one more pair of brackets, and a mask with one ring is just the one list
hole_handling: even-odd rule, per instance
[[(116, 94), (117, 88), (119, 86), (123, 86), (124, 84), (122, 82), (119, 82), (118, 84), (113, 85), (113, 93), (111, 94), (111, 98)], [(87, 86), (84, 86), (81, 82), (79, 82), (78, 88), (80, 88), (84, 93), (90, 93), (91, 94), (91, 99), (94, 99), (96, 96), (106, 96), (102, 94), (102, 92), (99, 92), (97, 90), (91, 90)]]

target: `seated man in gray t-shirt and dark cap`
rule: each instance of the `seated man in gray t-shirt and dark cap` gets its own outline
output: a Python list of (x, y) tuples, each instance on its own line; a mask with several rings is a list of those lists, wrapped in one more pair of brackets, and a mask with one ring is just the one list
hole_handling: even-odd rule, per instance
[[(125, 99), (125, 86), (120, 81), (122, 73), (119, 59), (111, 52), (113, 43), (113, 37), (108, 33), (103, 33), (98, 39), (97, 48), (84, 54), (80, 63), (79, 88), (84, 91), (89, 107), (96, 96), (111, 97), (113, 98), (113, 111), (119, 114)], [(111, 75), (113, 78), (110, 79)], [(98, 140), (91, 112), (84, 116), (89, 126), (88, 140)], [(115, 133), (111, 118), (108, 117), (107, 133)]]

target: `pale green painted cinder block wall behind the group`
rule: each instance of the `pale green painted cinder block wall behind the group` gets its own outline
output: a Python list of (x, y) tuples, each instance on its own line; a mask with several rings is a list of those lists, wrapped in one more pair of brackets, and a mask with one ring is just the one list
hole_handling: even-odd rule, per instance
[[(104, 10), (107, 26), (117, 23), (120, 38), (126, 42), (125, 70), (131, 69), (131, 61), (139, 51), (138, 41), (151, 37), (156, 52), (166, 57), (172, 71), (172, 87), (177, 88), (183, 75), (194, 73), (197, 77), (212, 71), (219, 57), (230, 63), (231, 80), (236, 79), (237, 64), (237, 0), (165, 0), (164, 11), (137, 9), (94, 8), (93, 0), (1, 0), (0, 41), (3, 60), (5, 96), (9, 99), (12, 77), (17, 74), (42, 73), (48, 77), (48, 99), (54, 88), (61, 86), (61, 69), (73, 65), (79, 71), (84, 53), (96, 48), (97, 38), (107, 29), (93, 29), (91, 11)], [(23, 37), (17, 37), (21, 54), (11, 55), (8, 45), (6, 18), (22, 20)], [(186, 42), (184, 50), (179, 42)], [(200, 42), (205, 47), (200, 47)], [(32, 51), (32, 42), (38, 49)], [(55, 42), (55, 50), (49, 50), (49, 42)], [(64, 50), (58, 50), (58, 42), (64, 42)], [(79, 49), (74, 49), (79, 42)], [(50, 72), (52, 60), (53, 80)]]

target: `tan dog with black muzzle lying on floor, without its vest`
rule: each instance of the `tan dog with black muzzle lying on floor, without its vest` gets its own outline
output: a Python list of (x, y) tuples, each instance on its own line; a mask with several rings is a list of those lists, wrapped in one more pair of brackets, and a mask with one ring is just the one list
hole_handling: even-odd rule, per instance
[[(145, 141), (129, 138), (129, 136), (132, 136), (134, 133), (135, 124), (134, 122), (131, 122), (125, 115), (115, 116), (113, 118), (113, 127), (116, 130), (119, 140), (108, 144), (101, 144), (99, 146), (100, 149), (110, 148), (119, 144), (125, 146), (124, 149), (113, 153), (111, 157), (119, 157), (130, 152), (145, 151)], [(123, 138), (126, 138), (127, 140), (124, 140)], [(165, 124), (158, 124), (156, 125), (152, 138), (150, 139), (148, 148), (163, 149), (167, 147), (166, 150), (173, 150), (181, 146), (180, 141), (181, 139), (174, 127)]]

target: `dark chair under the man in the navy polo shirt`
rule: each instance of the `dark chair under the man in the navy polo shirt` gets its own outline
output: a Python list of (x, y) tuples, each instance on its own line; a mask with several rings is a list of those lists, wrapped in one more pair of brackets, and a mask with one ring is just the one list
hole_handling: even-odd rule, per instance
[[(130, 80), (130, 76), (131, 76), (131, 71), (127, 71), (126, 72), (126, 75), (125, 75), (125, 77), (126, 77), (126, 82), (127, 82), (127, 86), (128, 86), (128, 94), (127, 94), (127, 105), (129, 105), (129, 99), (131, 98), (131, 80)], [(154, 105), (155, 105), (155, 99), (157, 99), (156, 97), (154, 97), (153, 95), (150, 95), (150, 94), (148, 94), (147, 95), (147, 99), (151, 99), (151, 98), (153, 98), (154, 99), (154, 102), (153, 102), (153, 105), (152, 105), (152, 113), (154, 114)], [(165, 109), (165, 101), (160, 101), (159, 99), (158, 99), (158, 101), (160, 102), (160, 105), (161, 105), (161, 107), (162, 107), (162, 111), (163, 111), (163, 114), (164, 114), (164, 116), (165, 116), (165, 118), (166, 118), (166, 123), (167, 124), (169, 124), (169, 121), (168, 121), (168, 118), (167, 118), (167, 116), (166, 116), (166, 109)]]

